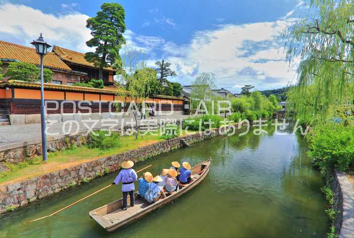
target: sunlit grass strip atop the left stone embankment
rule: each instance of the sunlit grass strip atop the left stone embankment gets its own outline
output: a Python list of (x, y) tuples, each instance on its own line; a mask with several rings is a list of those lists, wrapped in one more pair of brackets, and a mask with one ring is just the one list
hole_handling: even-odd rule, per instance
[[(183, 135), (186, 132), (183, 131)], [(0, 173), (0, 185), (10, 182), (21, 181), (27, 178), (36, 177), (55, 170), (68, 168), (80, 163), (104, 158), (110, 155), (119, 154), (125, 151), (134, 150), (140, 147), (154, 144), (164, 139), (159, 135), (146, 134), (135, 139), (135, 135), (120, 137), (121, 147), (115, 149), (101, 150), (98, 148), (90, 149), (87, 146), (53, 152), (48, 154), (48, 162), (42, 162), (42, 157), (37, 156), (18, 164), (6, 163), (9, 168), (7, 172)], [(108, 173), (105, 169), (105, 173)], [(101, 176), (101, 174), (99, 174)]]

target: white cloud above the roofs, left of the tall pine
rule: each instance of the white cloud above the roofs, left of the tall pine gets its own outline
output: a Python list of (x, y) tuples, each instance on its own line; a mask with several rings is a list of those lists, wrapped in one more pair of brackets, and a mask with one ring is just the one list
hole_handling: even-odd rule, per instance
[(91, 38), (86, 28), (89, 16), (80, 13), (67, 15), (45, 14), (39, 10), (5, 3), (0, 5), (0, 35), (9, 35), (19, 43), (29, 46), (30, 41), (42, 32), (50, 44), (86, 52), (85, 42)]

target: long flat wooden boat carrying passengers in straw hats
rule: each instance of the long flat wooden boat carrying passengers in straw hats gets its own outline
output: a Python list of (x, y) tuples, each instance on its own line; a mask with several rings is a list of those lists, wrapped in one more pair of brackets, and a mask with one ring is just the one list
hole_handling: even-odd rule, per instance
[[(189, 184), (180, 184), (180, 189), (177, 192), (166, 193), (166, 198), (159, 199), (157, 202), (149, 203), (145, 199), (137, 196), (135, 193), (135, 206), (128, 207), (127, 210), (122, 210), (123, 200), (119, 199), (115, 202), (104, 205), (91, 211), (90, 216), (97, 221), (107, 231), (114, 231), (121, 226), (127, 225), (136, 221), (147, 213), (172, 202), (174, 199), (190, 191), (198, 185), (209, 172), (211, 159), (201, 162), (191, 168), (194, 179)], [(130, 203), (128, 197), (128, 204)]]

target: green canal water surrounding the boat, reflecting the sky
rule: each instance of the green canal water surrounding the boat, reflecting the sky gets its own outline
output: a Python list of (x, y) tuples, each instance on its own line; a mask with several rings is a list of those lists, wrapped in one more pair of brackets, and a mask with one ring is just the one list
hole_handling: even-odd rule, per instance
[(156, 175), (172, 161), (193, 165), (212, 158), (199, 186), (113, 233), (89, 211), (121, 198), (120, 186), (53, 217), (23, 223), (110, 184), (116, 173), (2, 216), (0, 237), (325, 237), (324, 184), (306, 156), (306, 141), (292, 134), (291, 126), (285, 135), (276, 134), (274, 126), (264, 129), (268, 134), (219, 136), (139, 163), (137, 170), (153, 164), (150, 171)]

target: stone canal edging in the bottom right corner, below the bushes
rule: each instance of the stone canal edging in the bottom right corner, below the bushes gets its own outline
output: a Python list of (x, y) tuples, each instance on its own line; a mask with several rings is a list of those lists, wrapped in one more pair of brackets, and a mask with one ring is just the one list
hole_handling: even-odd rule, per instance
[(332, 190), (335, 203), (334, 227), (339, 238), (354, 237), (354, 180), (341, 171), (334, 172)]

